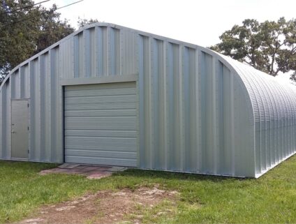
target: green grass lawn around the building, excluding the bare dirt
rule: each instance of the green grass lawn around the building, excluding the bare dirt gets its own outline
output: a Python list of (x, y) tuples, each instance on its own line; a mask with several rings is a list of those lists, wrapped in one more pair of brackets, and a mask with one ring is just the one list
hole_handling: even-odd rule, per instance
[[(53, 164), (0, 161), (0, 223), (29, 216), (44, 205), (86, 192), (154, 186), (181, 193), (177, 204), (161, 204), (173, 216), (154, 218), (141, 211), (143, 223), (296, 223), (296, 156), (259, 179), (127, 170), (89, 180), (66, 174), (40, 176)], [(157, 208), (156, 208), (157, 209)]]

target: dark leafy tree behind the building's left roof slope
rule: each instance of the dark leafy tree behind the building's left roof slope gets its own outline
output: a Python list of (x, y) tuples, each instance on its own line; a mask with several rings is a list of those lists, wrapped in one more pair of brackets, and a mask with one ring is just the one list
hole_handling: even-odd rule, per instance
[(57, 6), (32, 5), (31, 0), (2, 0), (0, 83), (12, 68), (74, 31), (66, 20), (60, 20)]

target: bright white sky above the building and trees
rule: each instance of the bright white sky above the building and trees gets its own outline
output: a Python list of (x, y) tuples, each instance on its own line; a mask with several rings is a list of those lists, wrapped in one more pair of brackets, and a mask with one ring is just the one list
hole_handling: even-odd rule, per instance
[[(77, 0), (50, 0), (58, 7)], [(77, 27), (78, 17), (97, 19), (209, 47), (245, 19), (287, 20), (296, 17), (296, 0), (84, 0), (59, 10)]]

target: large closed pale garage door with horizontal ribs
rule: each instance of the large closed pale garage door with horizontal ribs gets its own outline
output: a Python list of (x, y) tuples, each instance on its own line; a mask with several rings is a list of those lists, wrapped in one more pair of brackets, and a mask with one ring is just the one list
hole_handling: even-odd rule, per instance
[(65, 161), (136, 166), (135, 82), (65, 87)]

